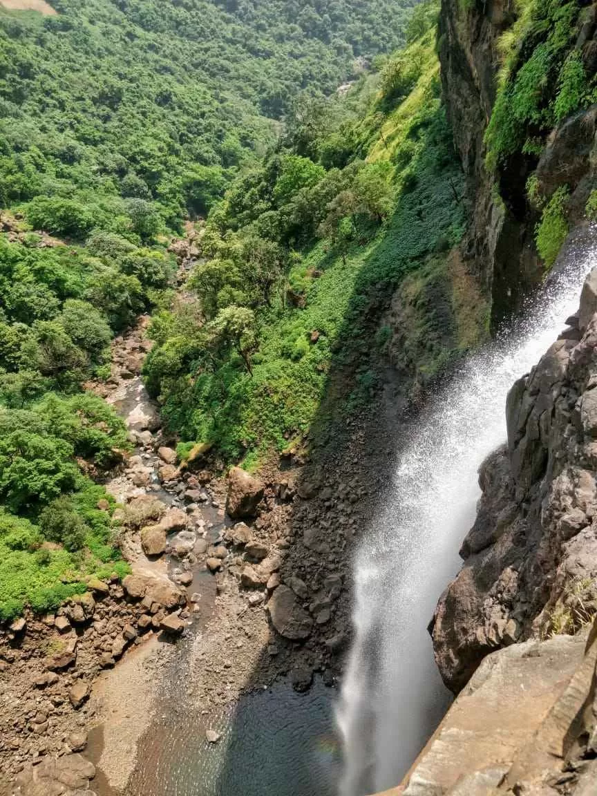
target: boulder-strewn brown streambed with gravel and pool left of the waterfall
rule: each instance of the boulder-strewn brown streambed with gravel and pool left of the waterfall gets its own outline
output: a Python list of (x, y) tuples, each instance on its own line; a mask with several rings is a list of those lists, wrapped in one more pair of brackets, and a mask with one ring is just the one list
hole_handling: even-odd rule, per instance
[(135, 445), (106, 484), (132, 572), (0, 634), (0, 794), (162, 794), (174, 782), (196, 794), (199, 777), (215, 796), (249, 782), (236, 766), (249, 748), (277, 749), (294, 772), (267, 773), (256, 754), (251, 792), (332, 792), (329, 686), (373, 482), (364, 432), (319, 468), (296, 455), (258, 478), (220, 477), (201, 447), (179, 466), (140, 376), (148, 322), (114, 341), (111, 377), (89, 385)]

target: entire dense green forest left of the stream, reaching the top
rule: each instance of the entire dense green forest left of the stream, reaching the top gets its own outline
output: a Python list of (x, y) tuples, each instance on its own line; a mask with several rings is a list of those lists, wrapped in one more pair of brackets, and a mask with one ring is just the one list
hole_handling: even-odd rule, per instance
[[(84, 382), (107, 377), (109, 342), (139, 313), (157, 312), (156, 329), (168, 318), (166, 244), (183, 220), (250, 181), (283, 124), (400, 46), (410, 6), (0, 8), (0, 620), (126, 572), (93, 478), (130, 443)], [(274, 286), (255, 289), (269, 299)], [(222, 351), (239, 322), (218, 320)]]

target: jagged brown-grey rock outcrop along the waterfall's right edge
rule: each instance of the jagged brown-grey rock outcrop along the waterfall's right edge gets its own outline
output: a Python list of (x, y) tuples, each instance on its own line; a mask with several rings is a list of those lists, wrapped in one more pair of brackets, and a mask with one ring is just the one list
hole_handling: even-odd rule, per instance
[(465, 564), (431, 623), (455, 693), (492, 650), (597, 613), (597, 269), (568, 321), (509, 392), (508, 444), (481, 467)]

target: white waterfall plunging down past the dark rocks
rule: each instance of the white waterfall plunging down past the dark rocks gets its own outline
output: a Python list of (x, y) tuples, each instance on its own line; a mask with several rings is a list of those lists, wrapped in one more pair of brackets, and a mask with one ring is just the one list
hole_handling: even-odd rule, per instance
[[(594, 238), (595, 240), (595, 238)], [(427, 623), (458, 571), (475, 516), (478, 467), (503, 443), (505, 398), (578, 308), (597, 247), (572, 247), (525, 322), (471, 357), (417, 419), (388, 505), (357, 552), (354, 638), (338, 706), (341, 796), (400, 782), (449, 704)]]

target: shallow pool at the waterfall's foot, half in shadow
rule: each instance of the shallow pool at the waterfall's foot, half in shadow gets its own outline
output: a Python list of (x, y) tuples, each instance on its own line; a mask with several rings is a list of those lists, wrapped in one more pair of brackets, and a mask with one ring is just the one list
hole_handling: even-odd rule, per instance
[[(287, 682), (244, 696), (217, 716), (174, 706), (156, 717), (139, 748), (130, 796), (335, 796), (340, 750), (336, 692), (316, 680), (298, 694)], [(220, 732), (217, 743), (205, 737)]]

